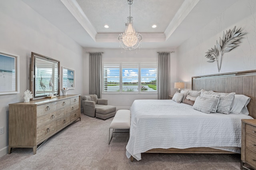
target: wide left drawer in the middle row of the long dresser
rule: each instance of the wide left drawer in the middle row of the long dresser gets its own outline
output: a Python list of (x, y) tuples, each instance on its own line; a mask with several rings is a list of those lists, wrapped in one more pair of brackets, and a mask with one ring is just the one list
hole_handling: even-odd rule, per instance
[(43, 125), (48, 124), (52, 121), (56, 121), (62, 116), (64, 116), (64, 109), (42, 115), (37, 118), (37, 128), (42, 127)]

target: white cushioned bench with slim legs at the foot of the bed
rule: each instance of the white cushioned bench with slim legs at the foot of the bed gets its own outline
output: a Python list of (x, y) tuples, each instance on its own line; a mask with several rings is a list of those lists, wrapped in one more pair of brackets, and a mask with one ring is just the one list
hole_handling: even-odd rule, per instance
[[(110, 144), (113, 133), (120, 133), (120, 132), (114, 132), (115, 129), (129, 129), (130, 130), (130, 126), (131, 126), (130, 110), (118, 110), (109, 126), (108, 144)], [(112, 132), (111, 138), (110, 138), (110, 129), (111, 128), (113, 129), (113, 132)]]

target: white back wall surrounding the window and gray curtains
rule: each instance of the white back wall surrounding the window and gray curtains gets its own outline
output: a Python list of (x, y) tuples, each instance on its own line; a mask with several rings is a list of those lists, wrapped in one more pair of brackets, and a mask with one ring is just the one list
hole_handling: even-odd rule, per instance
[[(175, 51), (175, 49), (137, 49), (134, 51), (124, 51), (122, 49), (85, 49), (84, 65), (89, 70), (89, 53), (86, 51), (104, 51), (102, 62), (158, 62), (157, 51)], [(176, 81), (176, 53), (171, 53), (171, 87)], [(89, 74), (84, 74), (84, 94), (89, 94)], [(171, 94), (175, 93), (171, 88)], [(109, 105), (114, 105), (118, 109), (129, 109), (136, 99), (157, 99), (157, 94), (102, 94), (102, 98), (108, 99)]]

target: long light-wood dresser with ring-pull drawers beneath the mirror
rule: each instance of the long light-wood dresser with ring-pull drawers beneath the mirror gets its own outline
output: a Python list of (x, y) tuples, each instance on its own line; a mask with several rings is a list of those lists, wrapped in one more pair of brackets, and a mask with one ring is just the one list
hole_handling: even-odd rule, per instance
[(9, 154), (12, 148), (33, 148), (64, 127), (81, 121), (80, 95), (57, 96), (9, 104)]

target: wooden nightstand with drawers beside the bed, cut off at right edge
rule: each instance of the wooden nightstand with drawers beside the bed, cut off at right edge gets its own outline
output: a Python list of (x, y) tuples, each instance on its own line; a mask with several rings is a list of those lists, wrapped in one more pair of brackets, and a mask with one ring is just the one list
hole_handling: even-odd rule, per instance
[(241, 169), (244, 163), (256, 169), (256, 119), (242, 119), (241, 140)]

